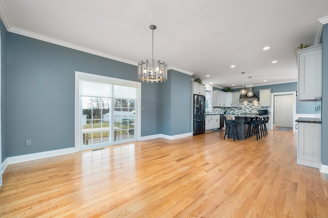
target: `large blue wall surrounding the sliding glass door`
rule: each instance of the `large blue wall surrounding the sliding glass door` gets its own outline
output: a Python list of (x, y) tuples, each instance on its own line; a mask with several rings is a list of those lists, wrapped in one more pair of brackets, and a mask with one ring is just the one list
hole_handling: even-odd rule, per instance
[[(4, 157), (74, 147), (75, 71), (137, 81), (134, 65), (7, 32)], [(141, 84), (141, 136), (160, 133), (160, 91)]]

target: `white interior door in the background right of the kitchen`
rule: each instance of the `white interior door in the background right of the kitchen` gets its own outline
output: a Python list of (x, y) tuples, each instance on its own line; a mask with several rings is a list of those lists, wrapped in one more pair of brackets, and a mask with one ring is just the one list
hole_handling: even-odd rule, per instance
[(293, 95), (276, 96), (276, 127), (293, 128)]

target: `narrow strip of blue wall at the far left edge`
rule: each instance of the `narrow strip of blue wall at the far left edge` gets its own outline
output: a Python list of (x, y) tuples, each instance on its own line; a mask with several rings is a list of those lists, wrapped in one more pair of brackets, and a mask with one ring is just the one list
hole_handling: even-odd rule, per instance
[[(6, 87), (7, 87), (7, 30), (4, 26), (4, 23), (0, 22), (1, 28), (1, 159), (0, 161), (4, 162), (7, 158), (7, 149), (6, 149), (6, 135), (7, 135), (7, 126), (6, 126)], [(1, 169), (0, 169), (1, 170)]]

